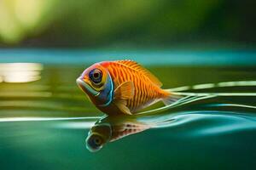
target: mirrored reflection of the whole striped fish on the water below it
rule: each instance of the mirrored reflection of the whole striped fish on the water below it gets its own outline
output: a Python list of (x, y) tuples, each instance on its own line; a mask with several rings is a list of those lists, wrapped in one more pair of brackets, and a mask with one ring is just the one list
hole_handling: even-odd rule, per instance
[(140, 133), (154, 127), (154, 123), (140, 122), (137, 116), (105, 116), (90, 128), (86, 139), (88, 150), (101, 150), (104, 144)]

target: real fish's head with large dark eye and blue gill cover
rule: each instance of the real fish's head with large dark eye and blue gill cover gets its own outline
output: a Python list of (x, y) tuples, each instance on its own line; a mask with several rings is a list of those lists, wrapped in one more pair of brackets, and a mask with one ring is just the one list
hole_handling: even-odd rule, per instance
[(108, 69), (100, 64), (91, 65), (77, 79), (79, 88), (98, 105), (109, 103), (113, 98), (113, 81)]

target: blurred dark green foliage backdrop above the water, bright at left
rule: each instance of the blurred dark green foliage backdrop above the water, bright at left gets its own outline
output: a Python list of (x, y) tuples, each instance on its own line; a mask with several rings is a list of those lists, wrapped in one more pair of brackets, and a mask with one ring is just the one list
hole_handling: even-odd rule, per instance
[(0, 0), (0, 47), (254, 46), (254, 0)]

